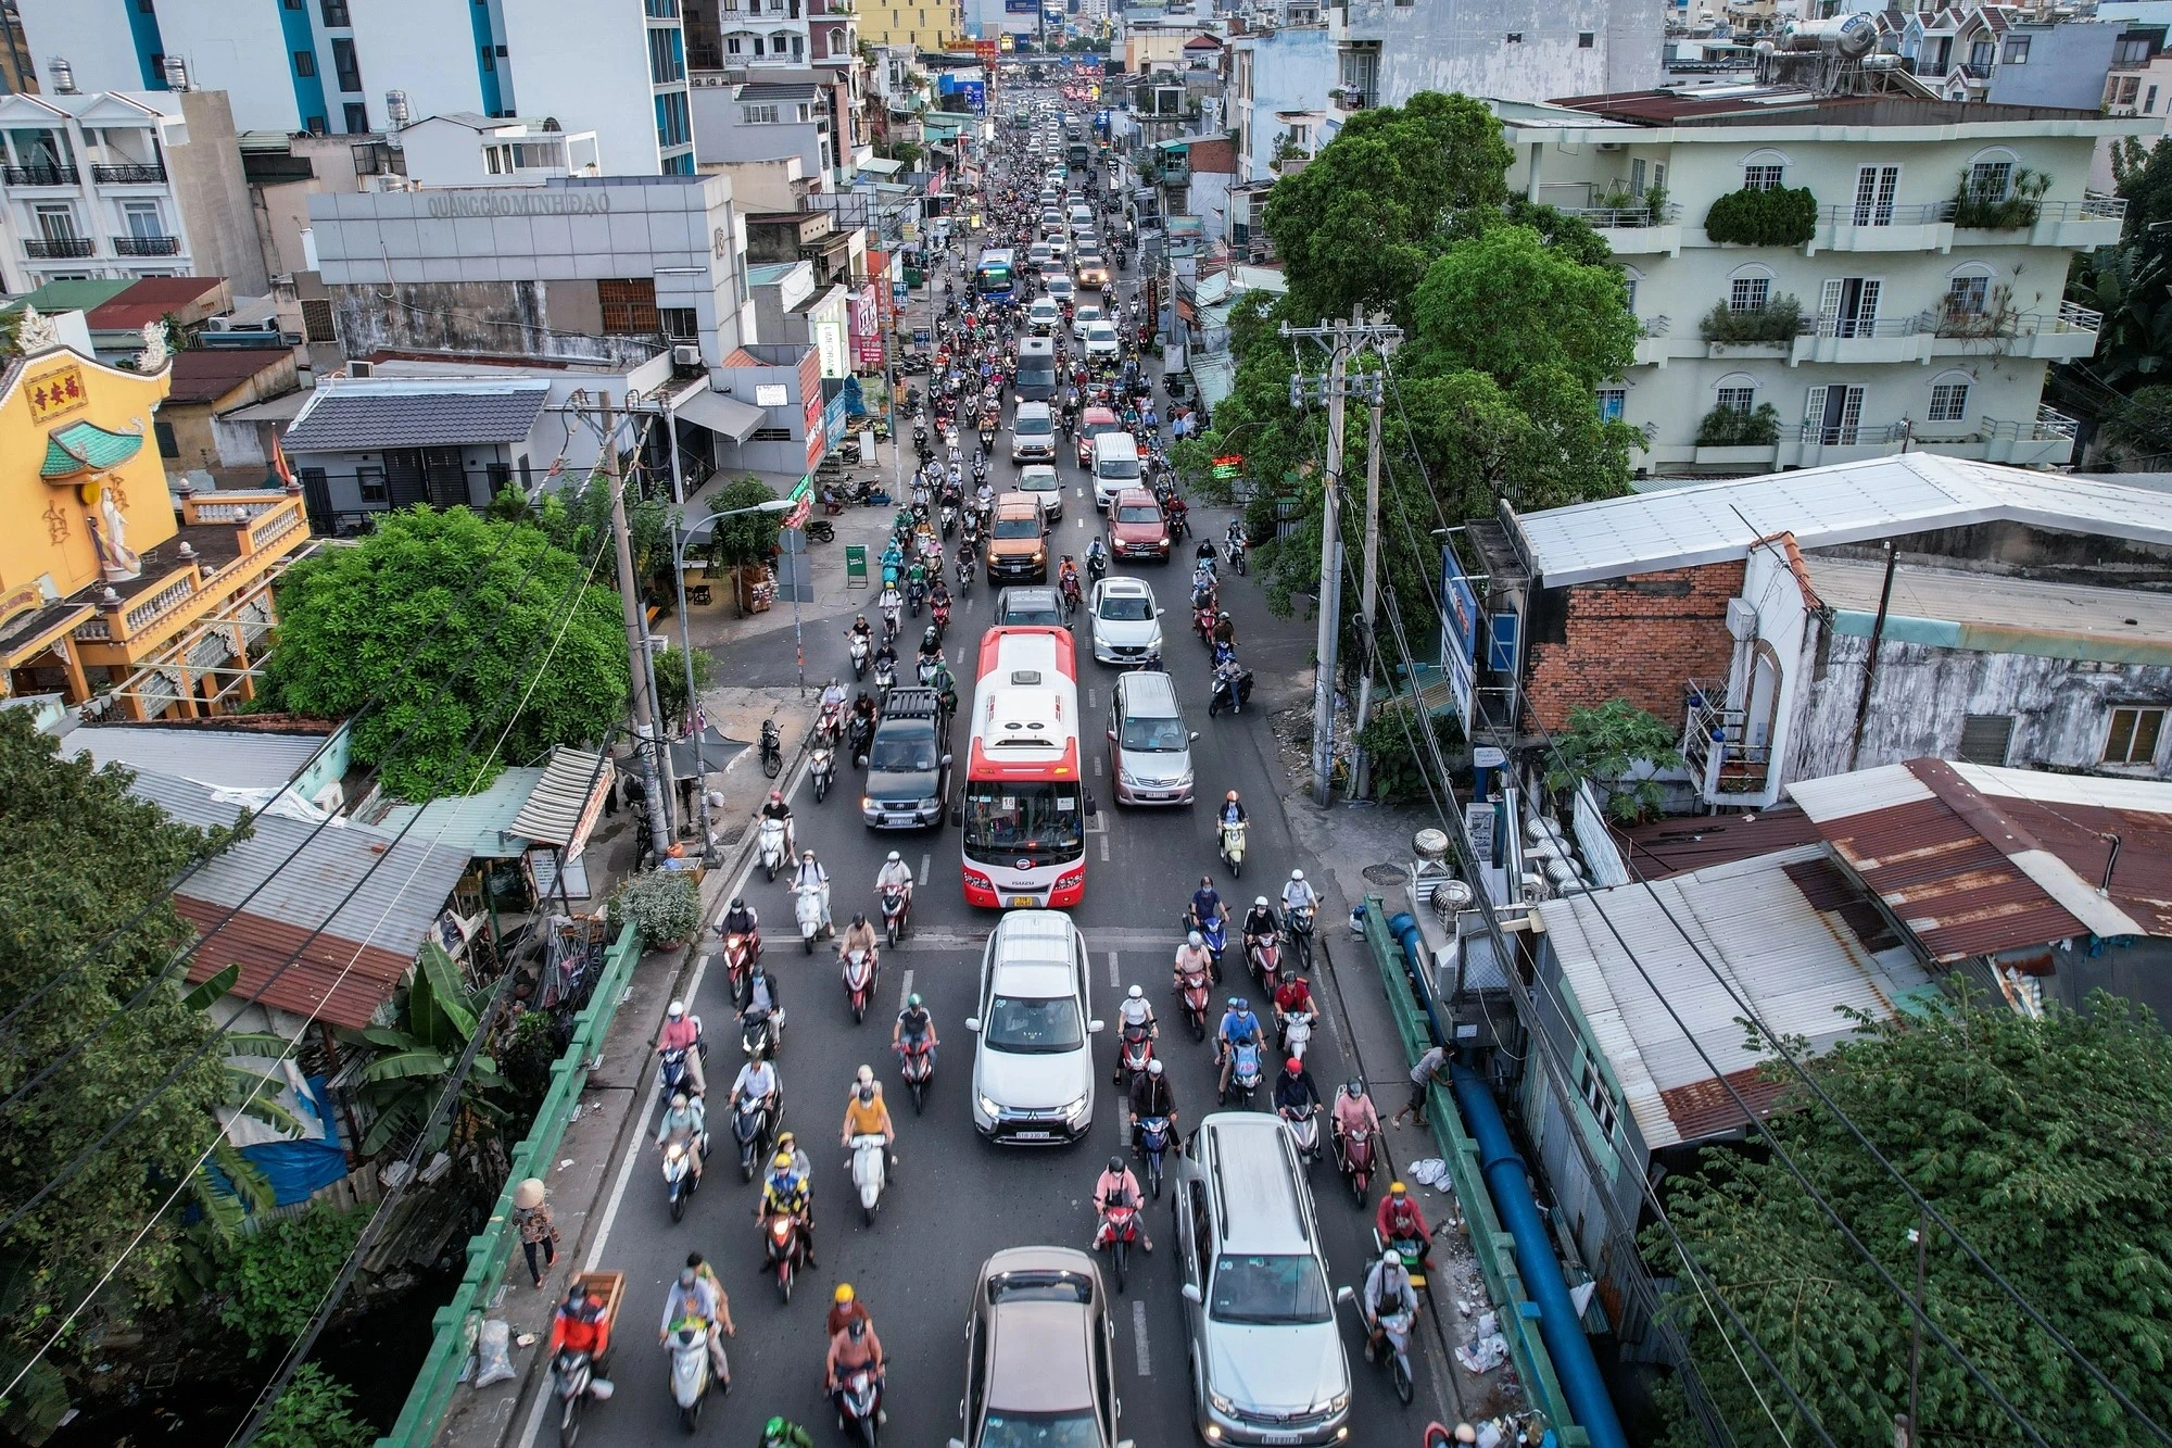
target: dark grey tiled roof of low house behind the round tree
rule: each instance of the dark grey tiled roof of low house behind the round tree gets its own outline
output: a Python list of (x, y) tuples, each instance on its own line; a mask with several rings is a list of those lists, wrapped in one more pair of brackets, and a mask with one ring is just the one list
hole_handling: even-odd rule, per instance
[(334, 378), (317, 387), (280, 446), (295, 454), (519, 441), (547, 400), (541, 378)]

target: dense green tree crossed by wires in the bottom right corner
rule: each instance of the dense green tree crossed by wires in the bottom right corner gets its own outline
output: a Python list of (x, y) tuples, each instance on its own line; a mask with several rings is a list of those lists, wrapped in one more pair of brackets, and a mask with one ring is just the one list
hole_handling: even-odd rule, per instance
[[(2081, 1011), (2026, 1020), (1998, 1002), (1953, 1000), (1866, 1024), (1807, 1070), (1985, 1261), (2150, 1418), (2172, 1418), (2172, 1044), (2144, 1009), (2098, 994)], [(1885, 1270), (1914, 1285), (1916, 1207), (1840, 1118), (1792, 1085), (1783, 1104), (1798, 1109), (1777, 1113), (1772, 1133)], [(1668, 1183), (1690, 1254), (1824, 1431), (1842, 1444), (1890, 1441), (1909, 1400), (1907, 1307), (1770, 1154), (1712, 1148), (1699, 1172)], [(1644, 1252), (1655, 1270), (1679, 1272), (1662, 1228), (1646, 1231)], [(2152, 1441), (1937, 1228), (1924, 1261), (1933, 1322), (2053, 1441)], [(1807, 1439), (1696, 1294), (1675, 1302), (1738, 1439)], [(1929, 1335), (1920, 1400), (1924, 1441), (2018, 1441)]]

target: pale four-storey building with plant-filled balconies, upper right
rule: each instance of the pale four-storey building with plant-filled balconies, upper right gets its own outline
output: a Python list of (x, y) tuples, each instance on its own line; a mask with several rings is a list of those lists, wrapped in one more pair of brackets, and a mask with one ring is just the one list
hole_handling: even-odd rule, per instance
[[(1599, 407), (1644, 430), (1651, 474), (2072, 459), (2044, 372), (2089, 357), (2100, 317), (2063, 300), (2068, 259), (2124, 217), (2085, 194), (2089, 157), (2146, 122), (1775, 89), (1497, 111), (1510, 187), (1588, 220), (1629, 278), (1644, 337)], [(1809, 191), (1803, 235), (1707, 233), (1714, 202), (1781, 189)]]

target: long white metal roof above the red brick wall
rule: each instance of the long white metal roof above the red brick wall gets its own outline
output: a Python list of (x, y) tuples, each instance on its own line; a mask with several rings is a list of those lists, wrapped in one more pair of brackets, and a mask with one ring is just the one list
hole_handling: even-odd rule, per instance
[(2172, 546), (2163, 494), (1935, 452), (1579, 502), (1516, 524), (1531, 572), (1566, 587), (1742, 559), (1777, 533), (1807, 550), (1994, 520)]

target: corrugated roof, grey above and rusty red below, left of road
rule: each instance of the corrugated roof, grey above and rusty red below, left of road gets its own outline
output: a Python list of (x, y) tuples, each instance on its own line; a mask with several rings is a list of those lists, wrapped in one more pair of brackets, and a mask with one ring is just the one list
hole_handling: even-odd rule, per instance
[[(132, 791), (191, 824), (230, 824), (239, 813), (202, 785), (163, 774), (139, 774)], [(243, 998), (334, 1026), (367, 1026), (467, 872), (467, 852), (430, 844), (421, 831), (393, 844), (389, 833), (361, 824), (334, 824), (315, 839), (315, 826), (278, 815), (258, 815), (250, 828), (250, 839), (174, 891), (174, 909), (211, 931), (189, 961), (189, 981), (239, 963), (235, 989)], [(258, 885), (248, 907), (219, 924)], [(356, 894), (345, 900), (350, 889)], [(317, 926), (324, 931), (308, 939)]]

